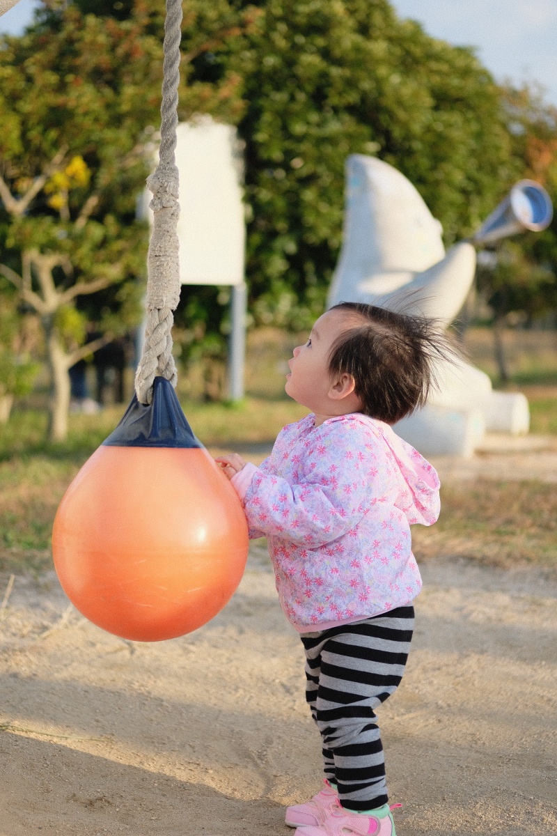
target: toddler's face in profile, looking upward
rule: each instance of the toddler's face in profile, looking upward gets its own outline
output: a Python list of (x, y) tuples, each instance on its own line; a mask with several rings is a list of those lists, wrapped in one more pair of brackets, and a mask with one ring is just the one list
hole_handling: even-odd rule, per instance
[[(285, 391), (299, 404), (307, 406), (316, 415), (347, 415), (359, 409), (359, 399), (346, 385), (338, 389), (338, 382), (329, 374), (329, 354), (335, 340), (347, 329), (359, 324), (354, 317), (342, 311), (327, 311), (311, 329), (305, 345), (294, 349), (288, 360), (290, 373), (286, 375)], [(346, 383), (346, 381), (345, 381)], [(335, 386), (337, 385), (337, 389)]]

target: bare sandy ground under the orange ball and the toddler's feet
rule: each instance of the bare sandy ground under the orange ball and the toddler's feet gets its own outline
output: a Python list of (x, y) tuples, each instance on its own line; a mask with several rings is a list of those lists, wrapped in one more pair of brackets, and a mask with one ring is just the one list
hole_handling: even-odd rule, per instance
[[(423, 578), (408, 672), (380, 710), (398, 836), (557, 833), (557, 582), (458, 562)], [(260, 546), (225, 610), (181, 639), (108, 635), (53, 575), (18, 577), (3, 616), (0, 836), (291, 833), (284, 807), (316, 792), (320, 747)]]

